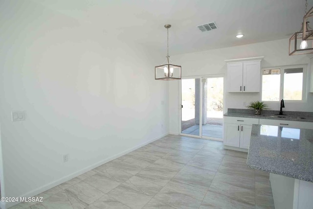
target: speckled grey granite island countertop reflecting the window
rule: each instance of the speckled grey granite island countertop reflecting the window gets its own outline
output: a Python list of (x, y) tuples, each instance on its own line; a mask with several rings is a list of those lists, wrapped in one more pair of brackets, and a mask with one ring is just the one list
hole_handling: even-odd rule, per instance
[(247, 165), (313, 182), (313, 130), (253, 124)]

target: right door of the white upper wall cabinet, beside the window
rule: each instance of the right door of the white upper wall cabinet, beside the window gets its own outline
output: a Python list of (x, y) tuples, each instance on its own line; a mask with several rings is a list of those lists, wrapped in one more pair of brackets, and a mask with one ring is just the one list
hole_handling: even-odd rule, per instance
[(243, 65), (243, 91), (260, 92), (261, 61), (245, 62)]

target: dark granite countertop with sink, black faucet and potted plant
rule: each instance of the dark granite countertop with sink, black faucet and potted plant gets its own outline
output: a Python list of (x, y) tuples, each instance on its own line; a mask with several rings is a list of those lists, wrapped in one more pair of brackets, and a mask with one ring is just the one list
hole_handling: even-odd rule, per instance
[[(276, 114), (279, 114), (279, 111), (263, 110), (262, 115), (254, 115), (253, 110), (228, 108), (228, 112), (225, 113), (224, 116), (313, 122), (313, 113), (312, 112), (283, 111), (283, 114), (286, 114), (285, 116), (283, 116), (283, 117), (271, 117), (271, 116), (274, 116)], [(297, 117), (303, 117), (304, 119), (297, 118)]]

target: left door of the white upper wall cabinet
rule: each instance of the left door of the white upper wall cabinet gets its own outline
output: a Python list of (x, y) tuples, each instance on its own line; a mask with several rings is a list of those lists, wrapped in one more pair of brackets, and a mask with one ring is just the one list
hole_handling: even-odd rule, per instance
[(227, 64), (227, 92), (243, 91), (243, 63)]

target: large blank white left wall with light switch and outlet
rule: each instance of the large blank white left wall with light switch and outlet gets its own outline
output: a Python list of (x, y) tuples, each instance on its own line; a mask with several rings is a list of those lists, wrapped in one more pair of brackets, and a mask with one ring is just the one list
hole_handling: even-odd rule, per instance
[(35, 195), (169, 132), (162, 56), (31, 1), (1, 1), (0, 19), (2, 196)]

